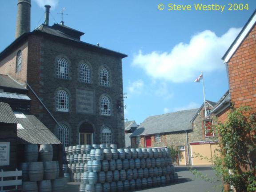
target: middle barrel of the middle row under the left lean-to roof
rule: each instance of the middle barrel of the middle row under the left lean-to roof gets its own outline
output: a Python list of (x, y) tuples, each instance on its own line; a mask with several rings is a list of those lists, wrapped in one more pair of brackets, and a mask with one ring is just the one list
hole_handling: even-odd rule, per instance
[(28, 167), (28, 175), (30, 181), (40, 181), (44, 179), (43, 162), (31, 162)]

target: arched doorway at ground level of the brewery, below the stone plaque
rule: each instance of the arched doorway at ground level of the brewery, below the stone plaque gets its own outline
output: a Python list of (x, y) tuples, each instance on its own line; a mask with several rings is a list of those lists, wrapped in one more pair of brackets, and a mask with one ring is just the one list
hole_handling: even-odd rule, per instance
[(89, 123), (83, 123), (79, 128), (79, 143), (93, 144), (93, 127)]

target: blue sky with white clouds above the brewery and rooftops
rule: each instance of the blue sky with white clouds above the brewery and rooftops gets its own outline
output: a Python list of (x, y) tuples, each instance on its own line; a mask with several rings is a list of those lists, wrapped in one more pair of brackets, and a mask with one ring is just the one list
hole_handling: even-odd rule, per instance
[[(0, 51), (14, 40), (17, 0), (1, 0)], [(164, 10), (158, 4), (164, 4)], [(192, 5), (191, 11), (168, 11), (168, 4)], [(248, 10), (228, 11), (228, 4)], [(198, 108), (218, 101), (228, 90), (221, 57), (256, 8), (255, 0), (32, 0), (31, 30), (44, 22), (44, 4), (52, 5), (50, 25), (60, 22), (85, 32), (81, 40), (128, 55), (123, 59), (127, 97), (125, 119)], [(194, 4), (225, 5), (224, 11), (195, 11)]]

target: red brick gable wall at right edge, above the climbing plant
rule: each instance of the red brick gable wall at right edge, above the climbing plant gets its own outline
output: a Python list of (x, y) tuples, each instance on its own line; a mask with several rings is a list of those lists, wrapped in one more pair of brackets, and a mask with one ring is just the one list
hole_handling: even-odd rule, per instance
[(235, 108), (256, 108), (256, 26), (228, 62), (231, 101)]

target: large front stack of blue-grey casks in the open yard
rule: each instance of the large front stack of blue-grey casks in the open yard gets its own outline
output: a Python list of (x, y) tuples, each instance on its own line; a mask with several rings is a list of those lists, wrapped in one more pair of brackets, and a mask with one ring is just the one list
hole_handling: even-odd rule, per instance
[(123, 192), (162, 186), (178, 181), (168, 148), (92, 148), (81, 181), (80, 192)]

